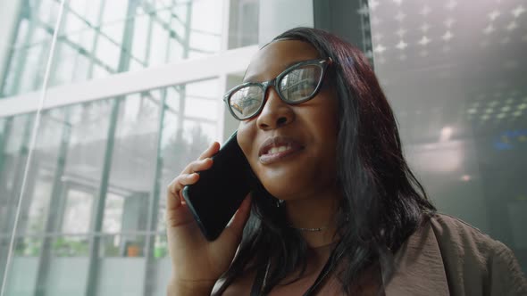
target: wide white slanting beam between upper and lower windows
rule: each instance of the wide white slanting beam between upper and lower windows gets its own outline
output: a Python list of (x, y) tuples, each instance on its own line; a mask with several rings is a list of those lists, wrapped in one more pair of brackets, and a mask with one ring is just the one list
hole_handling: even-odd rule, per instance
[[(251, 45), (216, 53), (205, 58), (119, 73), (111, 77), (76, 84), (54, 86), (47, 90), (43, 108), (47, 110), (70, 104), (93, 102), (119, 95), (240, 73), (247, 68), (251, 57), (257, 51), (258, 46)], [(1, 99), (0, 118), (37, 111), (39, 95), (40, 92), (31, 92)]]

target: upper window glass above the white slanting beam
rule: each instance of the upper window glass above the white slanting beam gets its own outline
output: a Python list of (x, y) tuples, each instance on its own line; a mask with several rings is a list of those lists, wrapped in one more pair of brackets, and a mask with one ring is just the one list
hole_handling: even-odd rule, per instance
[[(42, 61), (49, 53), (59, 4), (52, 0), (21, 4), (0, 97), (41, 86)], [(222, 13), (218, 13), (222, 4), (214, 0), (67, 1), (50, 86), (217, 53), (222, 45)]]

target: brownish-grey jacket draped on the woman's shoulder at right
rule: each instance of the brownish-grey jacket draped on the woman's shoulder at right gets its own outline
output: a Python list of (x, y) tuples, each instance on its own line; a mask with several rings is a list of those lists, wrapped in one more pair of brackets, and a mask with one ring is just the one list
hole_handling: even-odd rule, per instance
[(527, 295), (527, 280), (505, 244), (463, 221), (434, 215), (397, 251), (392, 295)]

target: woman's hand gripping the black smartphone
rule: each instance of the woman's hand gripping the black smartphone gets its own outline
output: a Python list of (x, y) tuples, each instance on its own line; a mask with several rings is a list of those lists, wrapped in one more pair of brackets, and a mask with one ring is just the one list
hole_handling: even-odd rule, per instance
[(199, 179), (197, 171), (211, 168), (213, 165), (211, 157), (219, 149), (220, 144), (214, 142), (198, 160), (190, 162), (180, 176), (168, 186), (166, 224), (172, 262), (169, 294), (176, 291), (179, 294), (183, 291), (188, 294), (202, 292), (210, 294), (215, 282), (229, 268), (241, 240), (243, 227), (250, 211), (250, 198), (246, 198), (241, 203), (222, 234), (215, 241), (209, 242), (201, 234), (181, 194), (185, 185), (197, 182)]

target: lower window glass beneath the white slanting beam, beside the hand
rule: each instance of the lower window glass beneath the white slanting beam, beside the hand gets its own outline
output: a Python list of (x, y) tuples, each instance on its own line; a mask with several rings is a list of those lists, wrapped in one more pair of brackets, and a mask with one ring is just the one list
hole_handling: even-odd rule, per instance
[[(151, 294), (143, 289), (163, 294), (170, 275), (164, 188), (208, 144), (220, 140), (217, 86), (214, 78), (44, 111), (15, 234), (9, 291), (40, 287), (57, 295), (79, 294), (88, 286), (97, 295)], [(23, 166), (15, 168), (29, 152), (32, 119), (0, 119), (7, 169), (0, 170), (0, 188), (9, 190), (3, 198), (10, 197), (10, 206), (2, 207), (8, 215), (0, 217), (5, 242), (23, 176)], [(0, 253), (4, 263), (7, 246)], [(146, 275), (146, 264), (163, 272)], [(33, 271), (23, 277), (29, 267)], [(63, 275), (69, 267), (75, 271)], [(62, 283), (63, 276), (71, 282)], [(146, 282), (162, 288), (146, 288)]]

